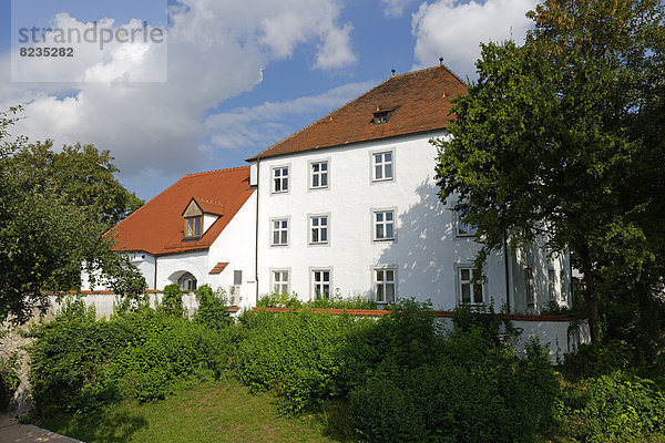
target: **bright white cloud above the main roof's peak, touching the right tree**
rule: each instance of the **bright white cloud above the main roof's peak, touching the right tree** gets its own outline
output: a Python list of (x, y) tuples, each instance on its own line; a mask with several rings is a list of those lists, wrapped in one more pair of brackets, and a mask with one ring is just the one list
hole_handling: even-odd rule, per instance
[(513, 39), (522, 42), (531, 21), (525, 18), (536, 0), (487, 0), (460, 3), (439, 0), (422, 3), (413, 14), (417, 66), (432, 66), (443, 55), (443, 63), (461, 78), (475, 76), (480, 42)]

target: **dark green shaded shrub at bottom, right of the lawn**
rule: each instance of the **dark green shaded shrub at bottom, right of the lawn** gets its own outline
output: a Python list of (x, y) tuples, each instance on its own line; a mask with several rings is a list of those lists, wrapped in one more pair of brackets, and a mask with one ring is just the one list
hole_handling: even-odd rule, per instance
[[(438, 361), (408, 371), (392, 365), (351, 392), (362, 440), (529, 441), (552, 422), (559, 389), (546, 350), (534, 344), (531, 360), (520, 361), (489, 349), (478, 329), (444, 341)], [(457, 353), (469, 344), (485, 352)]]

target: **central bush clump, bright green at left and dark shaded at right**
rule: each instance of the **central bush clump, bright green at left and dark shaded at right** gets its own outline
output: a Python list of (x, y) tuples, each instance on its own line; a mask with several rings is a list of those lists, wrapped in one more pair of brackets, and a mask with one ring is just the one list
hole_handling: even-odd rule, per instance
[(522, 361), (480, 328), (444, 334), (415, 301), (376, 322), (301, 310), (249, 312), (243, 326), (243, 382), (276, 388), (285, 413), (349, 399), (366, 441), (520, 441), (557, 410), (546, 350), (534, 344)]

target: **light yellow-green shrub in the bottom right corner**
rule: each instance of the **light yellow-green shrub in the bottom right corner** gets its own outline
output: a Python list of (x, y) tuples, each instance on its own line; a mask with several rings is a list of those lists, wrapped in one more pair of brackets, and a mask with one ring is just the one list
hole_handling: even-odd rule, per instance
[(564, 393), (567, 433), (582, 442), (644, 441), (665, 433), (665, 395), (653, 382), (616, 371)]

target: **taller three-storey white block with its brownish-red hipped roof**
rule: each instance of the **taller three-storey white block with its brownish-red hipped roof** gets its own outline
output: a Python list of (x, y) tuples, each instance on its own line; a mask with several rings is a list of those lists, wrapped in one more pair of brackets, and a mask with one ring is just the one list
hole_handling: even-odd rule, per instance
[(538, 312), (567, 305), (567, 257), (538, 247), (497, 251), (472, 281), (479, 245), (439, 199), (433, 179), (450, 102), (464, 83), (446, 66), (396, 75), (248, 159), (257, 186), (257, 297), (339, 293), (508, 303)]

